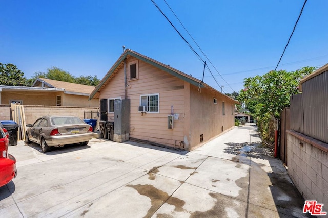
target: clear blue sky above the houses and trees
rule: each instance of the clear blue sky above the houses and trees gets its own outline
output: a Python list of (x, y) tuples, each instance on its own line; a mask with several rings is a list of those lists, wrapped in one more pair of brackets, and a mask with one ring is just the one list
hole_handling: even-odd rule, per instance
[[(303, 0), (166, 0), (218, 70), (204, 82), (238, 92), (243, 79), (277, 65)], [(155, 0), (206, 60), (163, 0)], [(102, 79), (122, 46), (202, 78), (203, 64), (150, 0), (4, 1), (0, 13), (0, 62), (31, 78), (52, 66)], [(309, 0), (278, 69), (328, 63), (328, 1)]]

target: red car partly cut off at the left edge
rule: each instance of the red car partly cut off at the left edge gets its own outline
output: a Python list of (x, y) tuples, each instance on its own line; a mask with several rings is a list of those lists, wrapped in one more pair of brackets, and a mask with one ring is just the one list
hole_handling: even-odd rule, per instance
[[(1, 124), (0, 124), (1, 125)], [(9, 134), (0, 127), (0, 187), (9, 183), (16, 177), (16, 159), (8, 154)]]

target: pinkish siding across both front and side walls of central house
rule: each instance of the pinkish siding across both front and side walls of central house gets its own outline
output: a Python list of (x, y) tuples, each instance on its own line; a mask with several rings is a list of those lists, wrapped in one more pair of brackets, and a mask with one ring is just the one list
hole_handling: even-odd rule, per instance
[[(138, 79), (130, 80), (129, 63), (137, 62)], [(223, 94), (208, 88), (198, 87), (183, 81), (142, 60), (130, 57), (126, 60), (127, 99), (131, 101), (130, 138), (150, 141), (169, 147), (192, 150), (200, 143), (216, 137), (234, 127), (235, 102)], [(101, 89), (100, 99), (125, 98), (124, 67), (115, 71), (110, 83)], [(159, 94), (159, 113), (140, 113), (140, 95)], [(213, 103), (217, 99), (217, 104)], [(226, 115), (222, 115), (222, 102), (226, 104)], [(168, 115), (173, 106), (174, 128), (168, 129)], [(114, 120), (114, 113), (108, 113)], [(223, 126), (223, 131), (221, 127)], [(180, 147), (181, 148), (181, 147)]]

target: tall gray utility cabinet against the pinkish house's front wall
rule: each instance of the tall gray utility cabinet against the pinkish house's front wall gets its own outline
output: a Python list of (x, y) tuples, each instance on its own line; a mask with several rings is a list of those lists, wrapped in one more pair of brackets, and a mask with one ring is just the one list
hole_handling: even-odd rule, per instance
[(130, 99), (115, 99), (114, 124), (114, 134), (130, 133)]

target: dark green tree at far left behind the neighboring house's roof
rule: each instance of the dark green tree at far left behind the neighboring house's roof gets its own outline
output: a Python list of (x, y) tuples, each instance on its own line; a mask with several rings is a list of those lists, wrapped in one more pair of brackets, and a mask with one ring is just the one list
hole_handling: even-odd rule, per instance
[(25, 86), (26, 78), (24, 72), (20, 71), (13, 64), (0, 63), (0, 85)]

